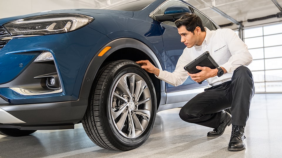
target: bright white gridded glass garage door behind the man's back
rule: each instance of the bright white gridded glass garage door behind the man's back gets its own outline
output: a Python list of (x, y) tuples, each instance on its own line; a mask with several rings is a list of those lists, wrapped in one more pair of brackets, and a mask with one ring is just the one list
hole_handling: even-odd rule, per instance
[(282, 93), (282, 23), (246, 28), (256, 93)]

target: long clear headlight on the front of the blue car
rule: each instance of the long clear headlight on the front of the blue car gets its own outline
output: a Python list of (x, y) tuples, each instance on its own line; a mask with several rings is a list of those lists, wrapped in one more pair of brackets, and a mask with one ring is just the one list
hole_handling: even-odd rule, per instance
[(4, 24), (11, 35), (46, 35), (76, 30), (93, 21), (80, 14), (48, 14), (19, 19)]

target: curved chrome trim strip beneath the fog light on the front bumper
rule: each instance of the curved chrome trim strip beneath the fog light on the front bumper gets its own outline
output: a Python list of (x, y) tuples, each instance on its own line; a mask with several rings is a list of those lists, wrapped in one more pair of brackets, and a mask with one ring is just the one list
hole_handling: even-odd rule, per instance
[(10, 89), (21, 95), (43, 95), (43, 94), (53, 94), (53, 93), (63, 92), (62, 88), (58, 90), (46, 90), (46, 91), (31, 91), (20, 87), (10, 87)]

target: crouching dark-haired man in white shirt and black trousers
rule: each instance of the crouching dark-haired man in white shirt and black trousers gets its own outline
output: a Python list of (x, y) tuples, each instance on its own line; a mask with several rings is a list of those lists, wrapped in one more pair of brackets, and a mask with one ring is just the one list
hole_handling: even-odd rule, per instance
[[(182, 107), (179, 116), (182, 120), (214, 128), (208, 137), (223, 134), (226, 126), (232, 123), (228, 150), (246, 148), (244, 128), (249, 117), (251, 98), (254, 95), (254, 82), (251, 71), (245, 67), (252, 61), (246, 44), (231, 29), (210, 31), (204, 27), (196, 14), (187, 13), (175, 21), (181, 42), (187, 47), (179, 57), (174, 72), (160, 70), (148, 60), (137, 61), (142, 68), (154, 73), (157, 78), (178, 86), (189, 76), (196, 82), (207, 80), (212, 87), (196, 95)], [(197, 66), (202, 70), (196, 74), (187, 73), (184, 66), (203, 52), (209, 51), (220, 65), (216, 69)], [(224, 109), (231, 107), (231, 115)]]

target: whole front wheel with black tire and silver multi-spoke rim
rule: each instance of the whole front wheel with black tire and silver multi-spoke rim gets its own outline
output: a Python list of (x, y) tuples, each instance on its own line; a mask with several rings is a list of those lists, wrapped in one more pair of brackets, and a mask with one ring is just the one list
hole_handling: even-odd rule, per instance
[(109, 63), (98, 73), (89, 96), (82, 124), (95, 144), (127, 151), (148, 139), (157, 101), (152, 80), (140, 65), (131, 60)]

